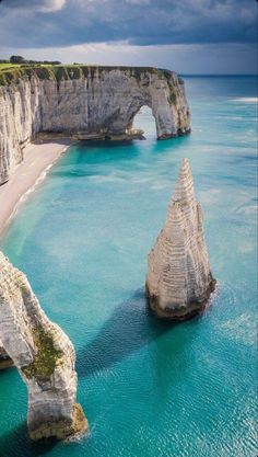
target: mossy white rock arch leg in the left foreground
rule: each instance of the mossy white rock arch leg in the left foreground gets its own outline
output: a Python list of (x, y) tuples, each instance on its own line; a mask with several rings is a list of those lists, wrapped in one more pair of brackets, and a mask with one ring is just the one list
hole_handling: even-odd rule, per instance
[(75, 402), (74, 349), (42, 310), (26, 276), (0, 253), (0, 340), (28, 390), (32, 439), (82, 433), (87, 421)]

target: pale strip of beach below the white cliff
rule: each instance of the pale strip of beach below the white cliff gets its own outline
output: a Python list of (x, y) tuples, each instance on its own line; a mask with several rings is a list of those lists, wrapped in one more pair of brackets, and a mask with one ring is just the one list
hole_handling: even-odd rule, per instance
[(0, 236), (28, 193), (72, 142), (74, 141), (63, 138), (26, 146), (23, 162), (17, 165), (10, 180), (0, 186)]

